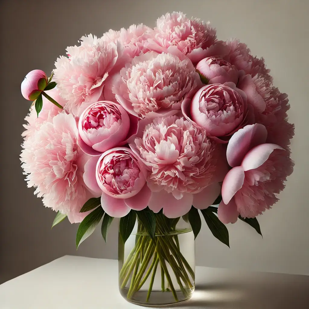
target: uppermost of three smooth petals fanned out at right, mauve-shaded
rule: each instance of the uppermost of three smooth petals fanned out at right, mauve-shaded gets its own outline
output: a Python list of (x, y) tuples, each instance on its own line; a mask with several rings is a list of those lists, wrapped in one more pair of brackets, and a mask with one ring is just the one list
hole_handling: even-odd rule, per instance
[(246, 125), (231, 137), (227, 149), (226, 159), (231, 167), (239, 166), (246, 153), (253, 147), (265, 143), (267, 130), (264, 125), (256, 123)]

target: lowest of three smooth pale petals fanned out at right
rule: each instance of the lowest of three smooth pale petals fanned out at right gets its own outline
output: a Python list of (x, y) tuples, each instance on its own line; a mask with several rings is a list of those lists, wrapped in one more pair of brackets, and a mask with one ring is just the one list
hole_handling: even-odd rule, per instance
[(245, 173), (243, 167), (233, 167), (225, 176), (222, 183), (222, 200), (225, 204), (231, 201), (235, 193), (242, 188), (243, 181), (245, 179)]

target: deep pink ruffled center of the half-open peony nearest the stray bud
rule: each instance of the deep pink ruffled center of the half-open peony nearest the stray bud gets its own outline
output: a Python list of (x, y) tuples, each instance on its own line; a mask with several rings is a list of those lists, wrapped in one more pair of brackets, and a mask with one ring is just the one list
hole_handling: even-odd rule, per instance
[(97, 104), (90, 108), (83, 119), (83, 129), (110, 129), (115, 122), (121, 120), (121, 112), (112, 104)]

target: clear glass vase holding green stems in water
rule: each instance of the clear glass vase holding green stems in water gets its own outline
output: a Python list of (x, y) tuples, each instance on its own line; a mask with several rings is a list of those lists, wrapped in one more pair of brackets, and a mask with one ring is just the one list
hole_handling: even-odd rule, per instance
[(183, 218), (155, 214), (154, 240), (136, 220), (125, 242), (119, 235), (119, 290), (129, 302), (164, 307), (191, 298), (195, 286), (195, 242)]

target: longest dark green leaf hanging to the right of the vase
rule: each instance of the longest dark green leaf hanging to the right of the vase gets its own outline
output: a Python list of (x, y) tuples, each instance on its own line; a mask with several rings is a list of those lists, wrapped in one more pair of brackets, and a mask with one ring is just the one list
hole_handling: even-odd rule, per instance
[(204, 216), (204, 219), (214, 237), (216, 237), (222, 243), (230, 247), (229, 231), (227, 230), (226, 226), (218, 219), (218, 217), (211, 210), (208, 210), (208, 208), (201, 209), (201, 213)]

